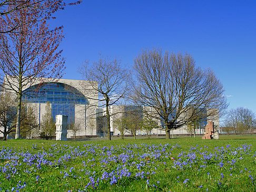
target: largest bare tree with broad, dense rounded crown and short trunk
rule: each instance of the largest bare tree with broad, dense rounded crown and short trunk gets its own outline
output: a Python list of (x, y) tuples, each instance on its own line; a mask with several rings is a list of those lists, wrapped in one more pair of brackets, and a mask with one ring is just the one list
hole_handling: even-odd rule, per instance
[(142, 50), (134, 59), (134, 68), (133, 98), (137, 105), (154, 109), (154, 118), (164, 123), (167, 139), (170, 130), (211, 116), (206, 109), (221, 113), (227, 108), (220, 80), (211, 69), (196, 67), (189, 54)]

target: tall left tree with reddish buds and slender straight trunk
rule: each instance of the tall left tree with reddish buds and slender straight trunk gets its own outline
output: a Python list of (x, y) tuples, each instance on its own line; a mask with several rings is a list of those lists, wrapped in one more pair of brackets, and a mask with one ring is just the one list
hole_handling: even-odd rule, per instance
[[(4, 25), (0, 24), (0, 31), (18, 25), (13, 33), (0, 34), (0, 69), (5, 75), (3, 88), (17, 96), (15, 138), (19, 138), (21, 103), (25, 89), (35, 82), (40, 83), (39, 88), (47, 81), (44, 77), (61, 78), (65, 68), (62, 50), (58, 50), (63, 38), (62, 29), (51, 30), (46, 24), (46, 18), (37, 22), (40, 14), (40, 11), (32, 9), (17, 9), (6, 15)], [(29, 25), (24, 25), (26, 23)]]

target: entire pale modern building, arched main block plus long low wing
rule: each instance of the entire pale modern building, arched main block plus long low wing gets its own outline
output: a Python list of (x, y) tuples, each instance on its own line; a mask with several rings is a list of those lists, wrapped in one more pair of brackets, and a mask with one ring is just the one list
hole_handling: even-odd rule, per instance
[[(36, 111), (38, 130), (34, 136), (40, 133), (40, 124), (45, 114), (47, 102), (51, 105), (52, 117), (55, 120), (56, 115), (67, 115), (68, 124), (75, 123), (79, 125), (76, 130), (76, 136), (99, 136), (106, 135), (106, 116), (105, 109), (99, 108), (97, 103), (98, 93), (92, 88), (97, 82), (88, 82), (86, 80), (72, 80), (72, 79), (45, 79), (46, 83), (42, 84), (38, 79), (32, 85), (24, 88), (23, 100), (29, 105), (32, 105)], [(11, 82), (15, 85), (15, 82)], [(11, 92), (16, 97), (15, 92)], [(120, 135), (119, 129), (114, 124), (115, 119), (127, 116), (130, 112), (136, 112), (134, 117), (142, 119), (145, 112), (152, 112), (149, 107), (137, 106), (110, 106), (111, 115), (111, 135)], [(212, 113), (214, 112), (214, 113)], [(196, 134), (203, 134), (203, 128), (209, 120), (213, 121), (216, 128), (219, 127), (219, 113), (218, 110), (207, 109), (205, 113), (211, 113), (209, 118), (202, 119), (199, 126), (196, 128)], [(163, 123), (159, 119), (154, 119), (159, 126)], [(67, 137), (73, 137), (74, 132), (68, 127)], [(138, 130), (137, 135), (144, 135), (144, 130)], [(126, 134), (131, 134), (126, 132)], [(165, 130), (153, 129), (151, 134), (165, 134)], [(188, 129), (183, 126), (179, 129), (173, 130), (171, 134), (188, 134)], [(0, 134), (0, 137), (2, 135)]]

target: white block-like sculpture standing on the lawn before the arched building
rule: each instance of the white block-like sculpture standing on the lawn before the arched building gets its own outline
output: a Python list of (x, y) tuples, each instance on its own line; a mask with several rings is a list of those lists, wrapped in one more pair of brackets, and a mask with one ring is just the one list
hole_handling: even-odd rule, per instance
[(56, 140), (67, 140), (67, 115), (56, 115)]

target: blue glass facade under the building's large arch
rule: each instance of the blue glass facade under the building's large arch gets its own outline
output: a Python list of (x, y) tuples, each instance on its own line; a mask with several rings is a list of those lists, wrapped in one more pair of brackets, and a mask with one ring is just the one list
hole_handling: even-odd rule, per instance
[(88, 104), (81, 92), (63, 83), (47, 83), (40, 86), (34, 85), (25, 90), (23, 99), (27, 102), (39, 104), (50, 102), (52, 104), (52, 116), (54, 121), (56, 115), (67, 115), (68, 124), (74, 123), (75, 105)]

